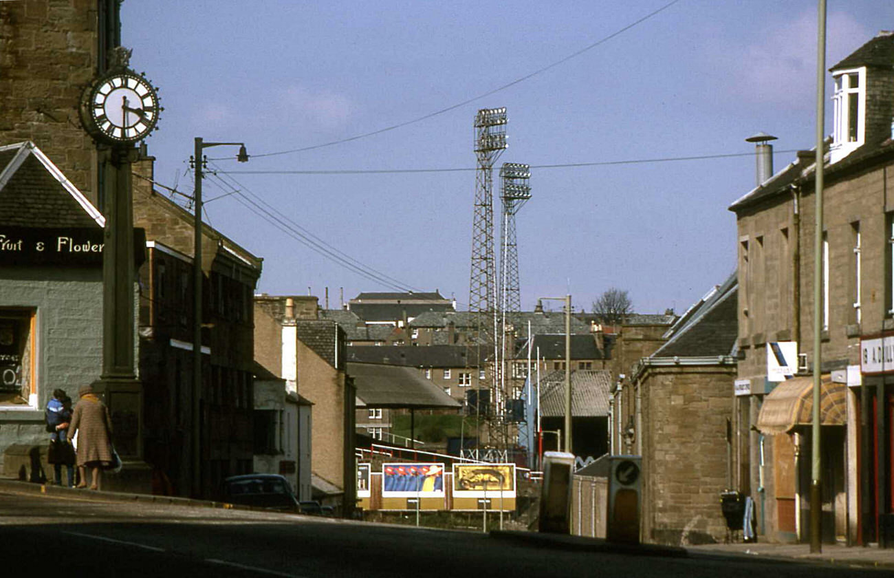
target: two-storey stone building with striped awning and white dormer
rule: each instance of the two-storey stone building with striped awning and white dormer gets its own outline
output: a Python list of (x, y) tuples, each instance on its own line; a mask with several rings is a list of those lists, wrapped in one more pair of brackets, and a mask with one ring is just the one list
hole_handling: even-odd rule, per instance
[[(820, 280), (823, 540), (890, 542), (890, 367), (894, 331), (894, 35), (831, 67)], [(770, 540), (807, 540), (811, 485), (815, 151), (798, 154), (730, 207), (738, 225), (738, 488)], [(787, 359), (781, 359), (787, 358)], [(797, 361), (796, 361), (797, 360)], [(810, 399), (807, 399), (807, 398)], [(787, 401), (788, 400), (788, 401)], [(753, 429), (752, 427), (755, 427)]]

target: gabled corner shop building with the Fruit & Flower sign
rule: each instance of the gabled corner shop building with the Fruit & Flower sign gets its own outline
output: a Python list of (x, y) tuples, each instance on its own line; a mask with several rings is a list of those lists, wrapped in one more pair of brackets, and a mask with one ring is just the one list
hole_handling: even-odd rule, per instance
[[(44, 408), (102, 369), (105, 219), (30, 141), (0, 147), (0, 460), (46, 479)], [(118, 416), (121, 417), (121, 416)]]

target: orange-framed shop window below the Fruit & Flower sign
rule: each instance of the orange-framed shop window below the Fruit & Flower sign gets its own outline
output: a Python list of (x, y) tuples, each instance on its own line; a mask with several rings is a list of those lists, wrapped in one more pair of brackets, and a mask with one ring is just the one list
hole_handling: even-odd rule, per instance
[(0, 404), (38, 406), (34, 311), (0, 309)]

